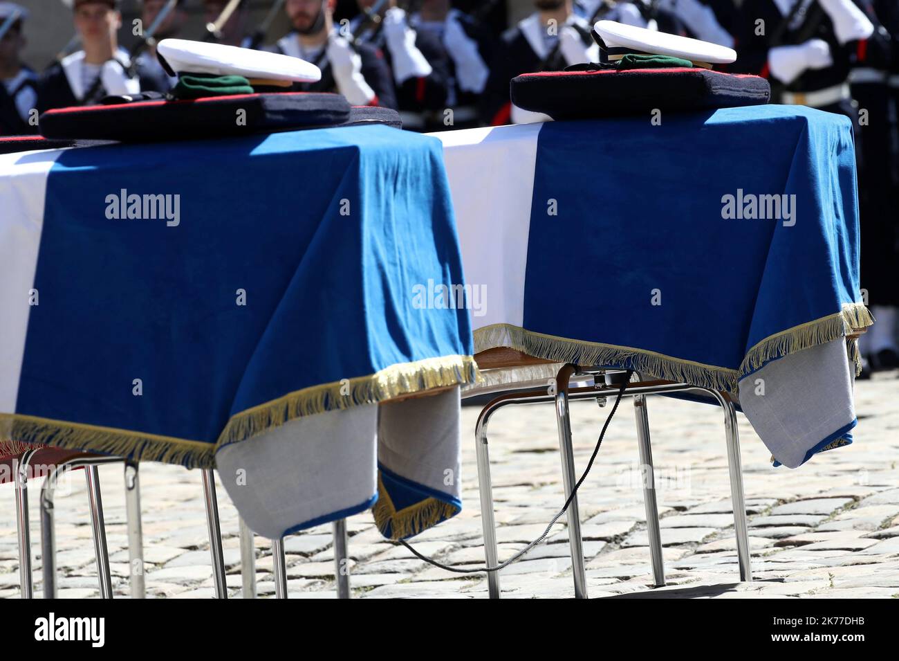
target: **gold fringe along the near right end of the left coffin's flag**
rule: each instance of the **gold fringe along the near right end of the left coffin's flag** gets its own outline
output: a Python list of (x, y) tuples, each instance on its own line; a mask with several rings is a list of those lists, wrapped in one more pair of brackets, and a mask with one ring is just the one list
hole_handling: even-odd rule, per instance
[(425, 390), (462, 386), (477, 378), (475, 359), (458, 355), (404, 362), (369, 376), (297, 390), (234, 415), (218, 437), (216, 451), (306, 415), (377, 404)]

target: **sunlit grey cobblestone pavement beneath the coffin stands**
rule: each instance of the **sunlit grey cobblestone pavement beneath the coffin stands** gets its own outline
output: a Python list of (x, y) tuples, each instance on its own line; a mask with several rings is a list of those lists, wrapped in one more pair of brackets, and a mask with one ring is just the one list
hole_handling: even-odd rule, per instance
[[(740, 416), (743, 479), (755, 581), (739, 583), (723, 415), (713, 406), (664, 397), (649, 401), (668, 586), (651, 589), (636, 431), (628, 400), (610, 425), (599, 460), (580, 491), (590, 596), (899, 597), (899, 379), (859, 382), (856, 442), (796, 470), (773, 469)], [(577, 466), (586, 466), (609, 408), (575, 402)], [(465, 509), (414, 540), (449, 564), (484, 561), (474, 452), (476, 407), (464, 410)], [(537, 537), (563, 504), (551, 406), (506, 408), (491, 424), (491, 462), (501, 559)], [(116, 594), (128, 594), (128, 551), (120, 466), (100, 469)], [(159, 464), (140, 471), (147, 593), (213, 594), (200, 473)], [(97, 595), (84, 478), (57, 500), (60, 597)], [(38, 553), (38, 489), (31, 489), (32, 546)], [(240, 595), (236, 510), (218, 488), (230, 596)], [(17, 597), (13, 488), (0, 487), (0, 598)], [(562, 520), (564, 522), (564, 519)], [(381, 539), (370, 513), (349, 520), (354, 596), (485, 597), (483, 575), (449, 574)], [(503, 570), (503, 596), (573, 594), (563, 523), (546, 544)], [(271, 596), (268, 540), (256, 538), (257, 585)], [(333, 597), (330, 526), (285, 541), (291, 597)], [(40, 594), (40, 558), (35, 560)]]

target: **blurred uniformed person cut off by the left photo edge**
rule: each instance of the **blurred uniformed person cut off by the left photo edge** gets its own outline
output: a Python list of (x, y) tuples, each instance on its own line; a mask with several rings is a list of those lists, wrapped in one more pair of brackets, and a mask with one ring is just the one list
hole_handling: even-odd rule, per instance
[(0, 135), (34, 133), (31, 109), (37, 103), (37, 74), (22, 63), (24, 7), (0, 2)]

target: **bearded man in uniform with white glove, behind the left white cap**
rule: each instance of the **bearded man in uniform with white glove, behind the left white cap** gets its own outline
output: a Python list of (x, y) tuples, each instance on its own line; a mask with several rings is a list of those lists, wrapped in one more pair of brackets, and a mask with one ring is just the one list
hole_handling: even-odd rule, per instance
[(312, 92), (339, 92), (352, 105), (396, 109), (396, 92), (382, 53), (334, 28), (335, 0), (287, 0), (293, 30), (271, 47), (322, 70), (318, 83), (299, 85)]

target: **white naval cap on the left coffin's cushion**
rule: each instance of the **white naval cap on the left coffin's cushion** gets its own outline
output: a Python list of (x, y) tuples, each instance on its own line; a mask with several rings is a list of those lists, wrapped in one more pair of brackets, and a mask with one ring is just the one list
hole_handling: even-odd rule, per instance
[(251, 80), (297, 83), (315, 83), (322, 77), (316, 65), (280, 53), (186, 39), (164, 39), (156, 49), (178, 74), (244, 76)]

